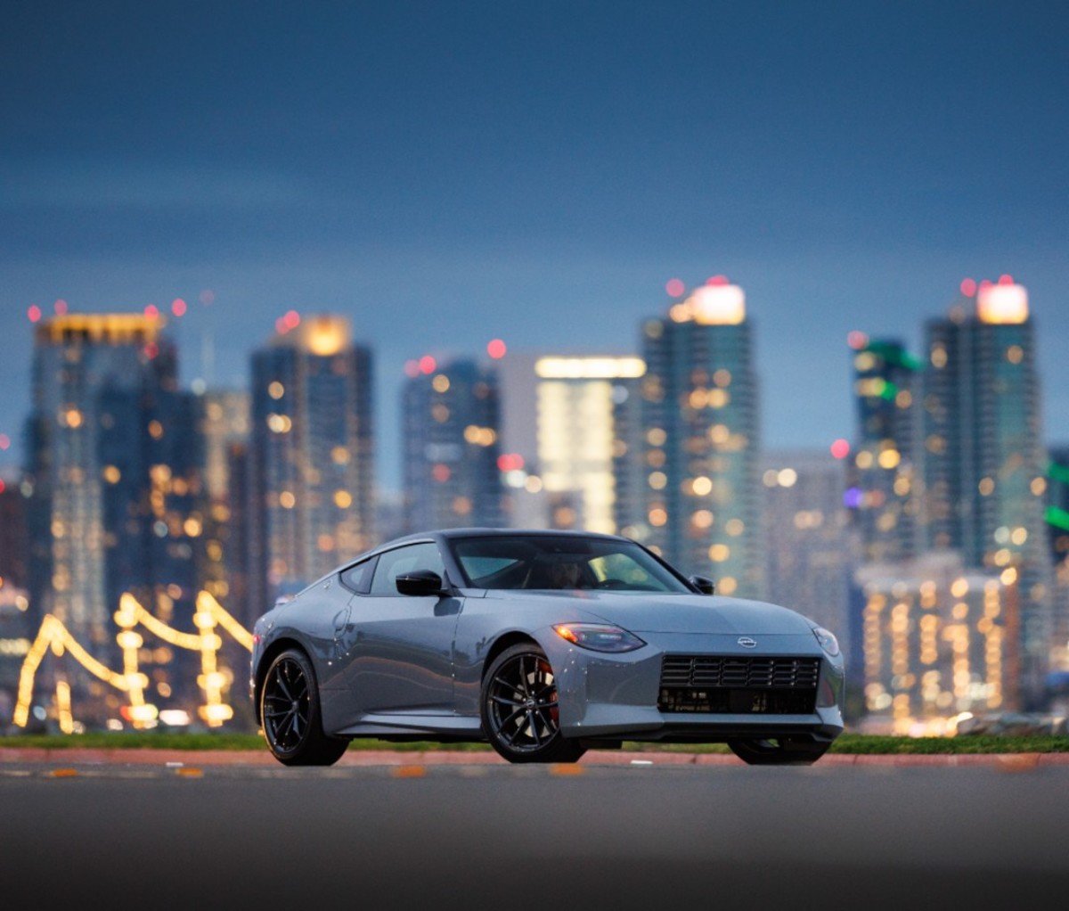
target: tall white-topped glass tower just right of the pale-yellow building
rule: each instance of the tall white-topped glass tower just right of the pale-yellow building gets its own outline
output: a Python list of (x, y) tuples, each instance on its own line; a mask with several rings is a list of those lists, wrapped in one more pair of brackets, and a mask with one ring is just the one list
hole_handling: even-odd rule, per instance
[(717, 277), (644, 325), (645, 510), (622, 524), (723, 595), (762, 597), (758, 381), (743, 290)]

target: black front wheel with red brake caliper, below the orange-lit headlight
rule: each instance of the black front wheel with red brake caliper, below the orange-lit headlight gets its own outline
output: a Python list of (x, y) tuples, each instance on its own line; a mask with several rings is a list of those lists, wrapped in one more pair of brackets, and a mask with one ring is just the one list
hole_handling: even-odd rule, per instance
[(575, 762), (587, 752), (560, 732), (553, 668), (533, 643), (514, 645), (494, 659), (479, 709), (491, 746), (510, 762)]

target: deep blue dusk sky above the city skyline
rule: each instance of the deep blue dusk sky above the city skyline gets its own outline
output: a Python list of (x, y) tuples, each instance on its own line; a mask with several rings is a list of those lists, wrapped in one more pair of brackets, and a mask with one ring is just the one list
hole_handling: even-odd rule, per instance
[(1067, 48), (1027, 0), (7, 2), (0, 466), (31, 305), (182, 298), (184, 379), (242, 388), (288, 310), (347, 315), (390, 487), (407, 359), (634, 353), (713, 275), (768, 448), (853, 435), (851, 330), (919, 353), (1002, 275), (1069, 442)]

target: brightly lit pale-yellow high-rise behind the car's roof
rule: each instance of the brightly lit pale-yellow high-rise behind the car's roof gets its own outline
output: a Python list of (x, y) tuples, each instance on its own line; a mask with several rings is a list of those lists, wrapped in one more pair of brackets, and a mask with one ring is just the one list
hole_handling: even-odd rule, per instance
[(546, 356), (538, 375), (538, 472), (547, 526), (617, 531), (619, 416), (637, 410), (638, 357)]

